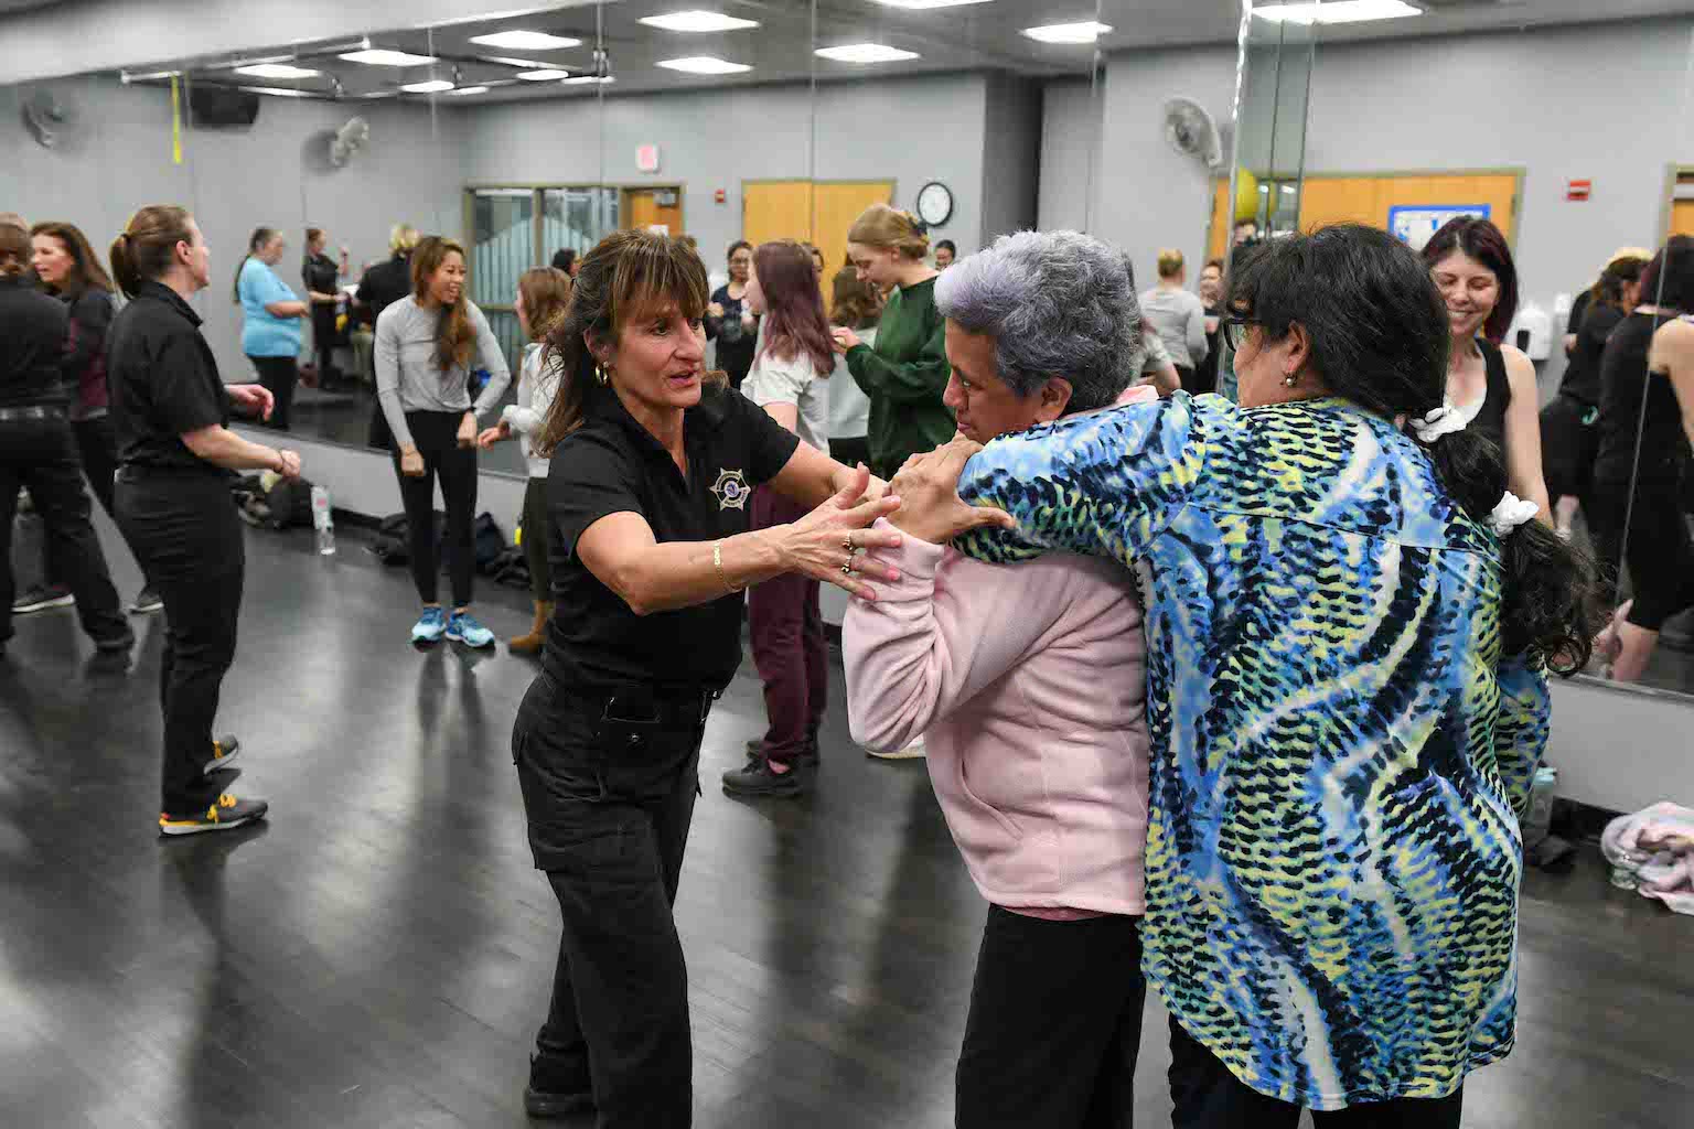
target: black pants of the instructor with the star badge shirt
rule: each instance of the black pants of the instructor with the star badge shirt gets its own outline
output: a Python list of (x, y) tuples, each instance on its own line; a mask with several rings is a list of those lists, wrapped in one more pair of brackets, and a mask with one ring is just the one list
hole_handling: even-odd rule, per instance
[(564, 919), (539, 1066), (593, 1078), (600, 1129), (684, 1129), (693, 1041), (671, 906), (705, 711), (698, 723), (605, 713), (625, 711), (586, 708), (540, 675), (512, 730), (530, 850)]

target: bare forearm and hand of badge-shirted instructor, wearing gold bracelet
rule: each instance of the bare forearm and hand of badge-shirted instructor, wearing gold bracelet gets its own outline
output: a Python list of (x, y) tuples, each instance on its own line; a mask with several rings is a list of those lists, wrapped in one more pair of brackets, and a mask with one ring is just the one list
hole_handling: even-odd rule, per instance
[[(806, 450), (805, 443), (801, 450)], [(583, 531), (576, 552), (588, 570), (637, 616), (706, 604), (786, 572), (828, 581), (854, 596), (874, 599), (864, 579), (893, 581), (898, 574), (866, 555), (850, 557), (845, 542), (850, 538), (855, 548), (900, 545), (894, 530), (866, 528), (893, 513), (900, 501), (861, 503), (869, 474), (855, 479), (800, 521), (718, 542), (659, 542), (642, 515), (627, 509), (610, 513)], [(844, 572), (842, 564), (849, 559), (852, 570)]]

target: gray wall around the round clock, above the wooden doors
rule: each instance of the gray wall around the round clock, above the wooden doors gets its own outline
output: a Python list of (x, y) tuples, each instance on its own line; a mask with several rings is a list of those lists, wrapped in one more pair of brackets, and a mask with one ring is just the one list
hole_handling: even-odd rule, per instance
[[(803, 85), (606, 98), (603, 134), (591, 100), (507, 103), (471, 112), (457, 171), (479, 183), (593, 183), (603, 166), (615, 184), (681, 181), (684, 227), (713, 266), (740, 239), (744, 179), (893, 178), (901, 207), (938, 179), (955, 210), (935, 237), (969, 254), (983, 232), (986, 88), (981, 74), (820, 86), (815, 164)], [(659, 146), (657, 174), (635, 169), (642, 144)]]

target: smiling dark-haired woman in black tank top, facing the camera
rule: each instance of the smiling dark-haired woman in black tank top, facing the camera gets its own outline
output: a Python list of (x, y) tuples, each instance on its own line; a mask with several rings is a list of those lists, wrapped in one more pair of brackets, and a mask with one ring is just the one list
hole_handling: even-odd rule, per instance
[(1453, 332), (1447, 401), (1501, 449), (1506, 489), (1533, 501), (1548, 520), (1535, 364), (1496, 344), (1518, 311), (1518, 267), (1506, 237), (1487, 220), (1459, 217), (1425, 244), (1423, 261)]

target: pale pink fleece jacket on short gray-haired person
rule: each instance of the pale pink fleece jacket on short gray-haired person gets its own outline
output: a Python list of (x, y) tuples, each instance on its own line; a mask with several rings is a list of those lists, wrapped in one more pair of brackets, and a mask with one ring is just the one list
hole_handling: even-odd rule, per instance
[[(918, 736), (977, 889), (1008, 909), (1140, 914), (1147, 642), (1121, 565), (989, 565), (911, 535), (842, 626), (854, 740)], [(1045, 914), (1044, 914), (1045, 916)]]

